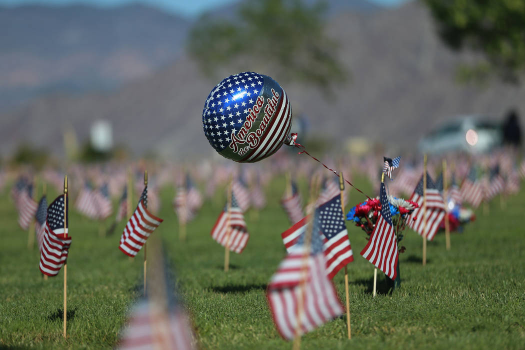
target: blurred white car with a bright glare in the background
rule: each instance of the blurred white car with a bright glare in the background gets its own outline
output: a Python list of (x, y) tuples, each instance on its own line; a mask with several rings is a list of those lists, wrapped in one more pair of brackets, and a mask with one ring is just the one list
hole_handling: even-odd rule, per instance
[(489, 152), (502, 142), (501, 123), (486, 116), (458, 116), (419, 141), (419, 151), (436, 154), (452, 151)]

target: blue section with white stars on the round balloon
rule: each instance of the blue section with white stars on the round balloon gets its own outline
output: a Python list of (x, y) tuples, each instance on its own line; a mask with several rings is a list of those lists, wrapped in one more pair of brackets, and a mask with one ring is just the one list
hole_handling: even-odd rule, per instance
[(204, 134), (213, 148), (220, 152), (237, 133), (259, 96), (264, 77), (255, 72), (243, 72), (225, 78), (209, 93), (202, 123)]

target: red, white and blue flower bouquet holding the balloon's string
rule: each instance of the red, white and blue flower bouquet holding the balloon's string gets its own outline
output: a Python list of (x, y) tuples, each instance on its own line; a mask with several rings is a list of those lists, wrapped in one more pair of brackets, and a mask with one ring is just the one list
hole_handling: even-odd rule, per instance
[[(408, 224), (408, 216), (412, 214), (418, 205), (412, 200), (394, 196), (388, 196), (388, 205), (392, 214), (392, 224), (394, 225), (397, 246), (400, 247), (399, 243), (403, 239), (402, 232)], [(350, 209), (348, 215), (346, 215), (346, 220), (354, 221), (355, 226), (361, 227), (365, 231), (366, 239), (370, 240), (370, 235), (372, 235), (375, 223), (379, 218), (380, 210), (381, 201), (379, 198), (370, 198)], [(405, 247), (398, 249), (401, 253), (405, 251)]]

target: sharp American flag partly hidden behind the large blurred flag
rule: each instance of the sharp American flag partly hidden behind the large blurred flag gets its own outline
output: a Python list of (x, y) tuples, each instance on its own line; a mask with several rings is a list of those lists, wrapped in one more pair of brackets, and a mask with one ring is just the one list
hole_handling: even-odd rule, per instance
[[(282, 232), (281, 237), (286, 250), (290, 252), (304, 236), (309, 217), (305, 217), (297, 224)], [(326, 272), (332, 279), (343, 267), (354, 260), (348, 231), (341, 209), (341, 196), (337, 195), (316, 209), (313, 235), (321, 235), (323, 252), (327, 263)]]

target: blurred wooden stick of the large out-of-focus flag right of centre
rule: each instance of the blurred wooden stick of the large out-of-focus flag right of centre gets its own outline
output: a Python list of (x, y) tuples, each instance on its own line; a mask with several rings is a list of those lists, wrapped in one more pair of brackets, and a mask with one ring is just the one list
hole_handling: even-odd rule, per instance
[[(312, 183), (317, 183), (316, 179), (312, 179)], [(312, 241), (312, 231), (313, 231), (313, 220), (316, 212), (315, 198), (316, 188), (318, 186), (313, 185), (310, 188), (310, 204), (308, 206), (309, 210), (307, 215), (310, 216), (308, 219), (308, 226), (306, 227), (306, 232), (304, 232), (304, 255), (301, 263), (301, 279), (299, 282), (299, 298), (297, 300), (297, 315), (296, 315), (296, 329), (295, 337), (293, 338), (293, 350), (299, 350), (301, 347), (301, 319), (302, 314), (304, 313), (304, 284), (306, 284), (306, 278), (308, 277), (308, 261), (310, 258), (310, 246)]]

